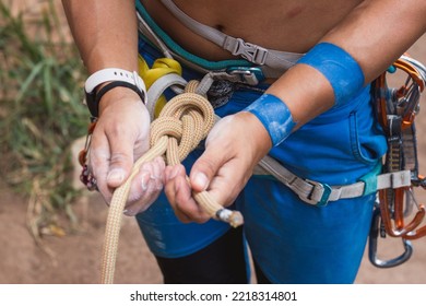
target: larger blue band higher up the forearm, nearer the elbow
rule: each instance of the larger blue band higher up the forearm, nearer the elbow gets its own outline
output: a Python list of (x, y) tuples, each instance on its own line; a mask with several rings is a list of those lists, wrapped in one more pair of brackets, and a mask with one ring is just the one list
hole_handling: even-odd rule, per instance
[(321, 72), (334, 91), (334, 105), (351, 101), (364, 86), (364, 72), (358, 62), (345, 50), (330, 43), (320, 43), (300, 58)]

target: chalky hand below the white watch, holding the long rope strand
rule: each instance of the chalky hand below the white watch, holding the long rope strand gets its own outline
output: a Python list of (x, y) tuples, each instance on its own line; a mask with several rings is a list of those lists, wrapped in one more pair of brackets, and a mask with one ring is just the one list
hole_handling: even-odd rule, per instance
[[(133, 163), (150, 148), (150, 115), (138, 94), (116, 87), (99, 104), (99, 118), (92, 136), (88, 168), (99, 192), (110, 202), (114, 190), (131, 173)], [(164, 185), (162, 157), (144, 163), (133, 178), (125, 214), (146, 210)]]

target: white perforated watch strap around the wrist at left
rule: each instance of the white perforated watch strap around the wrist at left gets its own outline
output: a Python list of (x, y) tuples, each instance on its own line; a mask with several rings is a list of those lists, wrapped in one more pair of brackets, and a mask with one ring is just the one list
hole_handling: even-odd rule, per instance
[(146, 93), (145, 83), (139, 76), (138, 72), (130, 72), (128, 70), (119, 69), (119, 68), (106, 68), (93, 73), (86, 80), (84, 85), (84, 90), (86, 93), (92, 93), (96, 86), (100, 85), (105, 82), (110, 81), (122, 81), (135, 85), (141, 90), (142, 93)]

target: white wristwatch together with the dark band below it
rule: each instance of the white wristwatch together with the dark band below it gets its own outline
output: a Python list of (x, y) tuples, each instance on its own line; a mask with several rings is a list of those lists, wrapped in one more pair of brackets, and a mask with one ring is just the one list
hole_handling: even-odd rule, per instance
[[(96, 87), (106, 82), (109, 83), (96, 92)], [(141, 97), (143, 103), (146, 103), (145, 83), (138, 72), (119, 68), (102, 69), (88, 76), (84, 84), (85, 103), (93, 118), (97, 118), (99, 115), (98, 108), (102, 96), (117, 86), (131, 89)]]

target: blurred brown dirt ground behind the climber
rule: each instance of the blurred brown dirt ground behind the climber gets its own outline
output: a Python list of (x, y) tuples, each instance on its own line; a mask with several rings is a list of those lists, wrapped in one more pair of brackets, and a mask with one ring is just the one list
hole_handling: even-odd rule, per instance
[[(426, 35), (410, 50), (426, 63)], [(426, 104), (426, 94), (423, 96)], [(426, 173), (426, 111), (417, 118), (421, 173)], [(423, 169), (423, 170), (422, 170)], [(7, 174), (4, 174), (7, 175)], [(2, 177), (3, 175), (1, 175)], [(96, 195), (74, 204), (80, 226), (63, 237), (45, 236), (37, 245), (26, 227), (27, 201), (12, 193), (0, 177), (0, 283), (2, 284), (91, 284), (99, 282), (100, 252), (107, 207)], [(417, 192), (426, 202), (426, 193)], [(401, 252), (401, 240), (380, 240), (386, 256)], [(356, 279), (358, 284), (426, 284), (426, 237), (415, 240), (409, 262), (378, 269), (365, 257)], [(45, 250), (48, 250), (46, 252)], [(125, 217), (120, 234), (116, 283), (162, 283), (155, 259), (150, 254), (132, 217)]]

